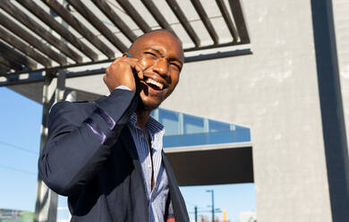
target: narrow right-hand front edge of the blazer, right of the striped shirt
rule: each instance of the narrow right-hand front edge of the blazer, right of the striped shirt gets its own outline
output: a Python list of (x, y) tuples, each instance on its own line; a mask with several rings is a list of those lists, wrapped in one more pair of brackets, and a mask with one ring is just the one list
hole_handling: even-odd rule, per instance
[(188, 212), (185, 207), (182, 194), (179, 191), (177, 180), (175, 179), (174, 172), (172, 171), (164, 151), (162, 151), (162, 161), (166, 168), (168, 187), (171, 195), (172, 206), (174, 208), (175, 221), (189, 221)]

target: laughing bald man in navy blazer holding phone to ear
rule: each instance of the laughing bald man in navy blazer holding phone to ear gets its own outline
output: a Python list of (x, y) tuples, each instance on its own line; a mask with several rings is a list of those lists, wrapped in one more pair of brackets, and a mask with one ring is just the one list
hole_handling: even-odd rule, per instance
[(151, 31), (106, 68), (108, 97), (52, 108), (39, 175), (68, 196), (71, 221), (189, 221), (163, 126), (149, 116), (173, 92), (183, 59), (173, 33)]

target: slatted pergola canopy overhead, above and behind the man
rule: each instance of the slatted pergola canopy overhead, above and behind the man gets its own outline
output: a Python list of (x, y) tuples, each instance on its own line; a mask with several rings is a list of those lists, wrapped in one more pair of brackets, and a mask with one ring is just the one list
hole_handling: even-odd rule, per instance
[[(175, 0), (2, 0), (0, 86), (44, 81), (41, 72), (110, 62), (149, 30), (174, 31), (184, 52), (250, 43), (239, 0), (190, 2), (191, 7)], [(217, 50), (186, 56), (185, 62), (249, 53)]]

